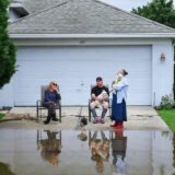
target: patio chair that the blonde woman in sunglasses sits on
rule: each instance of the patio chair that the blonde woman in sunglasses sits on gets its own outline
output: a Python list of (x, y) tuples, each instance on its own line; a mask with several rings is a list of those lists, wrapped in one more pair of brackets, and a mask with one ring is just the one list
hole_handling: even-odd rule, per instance
[[(46, 116), (42, 115), (43, 109), (47, 109), (47, 107), (43, 106), (44, 98), (45, 98), (45, 91), (47, 90), (47, 85), (42, 85), (42, 91), (40, 91), (40, 100), (36, 102), (36, 116), (37, 116), (37, 121), (39, 121), (42, 118), (45, 118)], [(56, 109), (59, 109), (59, 121), (61, 122), (61, 100), (57, 102)]]

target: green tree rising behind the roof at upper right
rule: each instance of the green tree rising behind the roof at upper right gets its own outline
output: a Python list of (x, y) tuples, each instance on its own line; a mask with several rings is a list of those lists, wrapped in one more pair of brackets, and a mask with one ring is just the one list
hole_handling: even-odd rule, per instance
[(152, 0), (147, 5), (132, 9), (132, 13), (175, 28), (175, 9), (173, 0)]

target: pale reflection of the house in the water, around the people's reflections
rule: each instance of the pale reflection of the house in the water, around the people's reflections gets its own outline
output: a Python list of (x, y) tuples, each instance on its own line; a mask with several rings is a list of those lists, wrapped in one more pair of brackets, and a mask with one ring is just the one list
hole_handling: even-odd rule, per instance
[[(1, 129), (0, 162), (9, 163), (16, 175), (96, 174), (89, 142), (78, 140), (78, 132), (62, 131), (60, 163), (55, 167), (40, 158), (36, 133), (36, 130)], [(108, 132), (105, 133), (109, 138)], [(125, 162), (128, 175), (173, 174), (173, 141), (170, 132), (162, 136), (161, 131), (125, 131), (124, 137), (127, 137)], [(47, 139), (46, 135), (43, 139)], [(109, 154), (109, 161), (104, 162), (104, 175), (112, 174), (112, 147)]]

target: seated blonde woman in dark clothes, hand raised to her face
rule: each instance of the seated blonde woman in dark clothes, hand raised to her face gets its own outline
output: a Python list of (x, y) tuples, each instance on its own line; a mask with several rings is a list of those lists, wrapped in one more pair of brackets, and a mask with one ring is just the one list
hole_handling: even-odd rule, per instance
[(48, 108), (47, 119), (44, 121), (46, 125), (49, 124), (50, 119), (58, 121), (56, 118), (57, 102), (60, 100), (59, 88), (56, 82), (51, 81), (48, 89), (45, 91), (44, 106)]

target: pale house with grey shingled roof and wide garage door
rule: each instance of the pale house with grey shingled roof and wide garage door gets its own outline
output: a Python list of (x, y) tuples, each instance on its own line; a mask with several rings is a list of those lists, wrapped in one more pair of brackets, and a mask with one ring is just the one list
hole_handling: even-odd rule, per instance
[(9, 25), (18, 72), (0, 106), (33, 106), (56, 80), (63, 105), (88, 105), (90, 85), (129, 72), (128, 105), (160, 105), (173, 89), (175, 30), (100, 0), (23, 0), (28, 15)]

